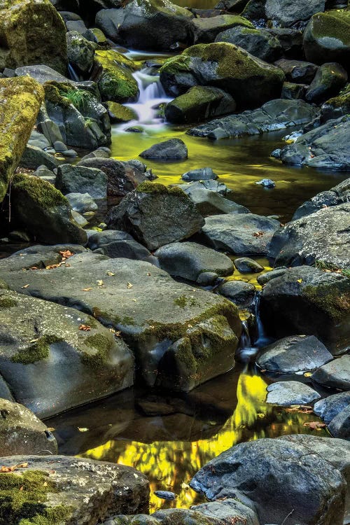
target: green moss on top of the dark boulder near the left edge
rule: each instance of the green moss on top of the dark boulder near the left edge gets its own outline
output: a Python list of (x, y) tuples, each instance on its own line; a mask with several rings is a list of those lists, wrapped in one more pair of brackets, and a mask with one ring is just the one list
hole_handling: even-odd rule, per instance
[(39, 177), (15, 174), (13, 176), (13, 187), (18, 192), (27, 193), (31, 200), (41, 208), (69, 206), (68, 200), (59, 190)]

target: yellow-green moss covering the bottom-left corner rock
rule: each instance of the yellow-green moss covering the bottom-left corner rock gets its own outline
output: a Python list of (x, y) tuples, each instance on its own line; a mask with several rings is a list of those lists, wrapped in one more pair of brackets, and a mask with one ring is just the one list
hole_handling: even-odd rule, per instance
[(6, 525), (57, 525), (69, 519), (73, 507), (47, 506), (48, 493), (57, 493), (46, 472), (0, 473), (0, 523)]

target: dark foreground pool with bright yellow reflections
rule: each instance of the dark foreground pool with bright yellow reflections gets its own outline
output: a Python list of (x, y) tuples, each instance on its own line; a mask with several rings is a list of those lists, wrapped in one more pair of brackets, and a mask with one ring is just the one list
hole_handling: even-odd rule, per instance
[[(144, 472), (151, 482), (151, 512), (188, 507), (201, 500), (188, 482), (212, 458), (239, 442), (306, 433), (303, 423), (317, 419), (314, 414), (267, 405), (266, 386), (253, 370), (242, 372), (237, 366), (188, 394), (174, 397), (130, 389), (47, 424), (56, 429), (64, 454), (131, 465)], [(153, 494), (156, 490), (174, 491), (178, 497), (160, 500)]]

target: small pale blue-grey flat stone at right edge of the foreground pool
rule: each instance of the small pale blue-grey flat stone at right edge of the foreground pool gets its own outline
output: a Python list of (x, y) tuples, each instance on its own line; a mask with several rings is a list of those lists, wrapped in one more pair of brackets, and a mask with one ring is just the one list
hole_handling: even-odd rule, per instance
[(282, 407), (290, 405), (308, 405), (321, 395), (304, 383), (299, 381), (278, 381), (266, 388), (266, 402)]

